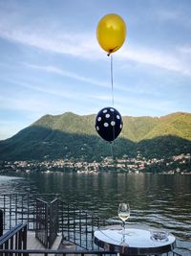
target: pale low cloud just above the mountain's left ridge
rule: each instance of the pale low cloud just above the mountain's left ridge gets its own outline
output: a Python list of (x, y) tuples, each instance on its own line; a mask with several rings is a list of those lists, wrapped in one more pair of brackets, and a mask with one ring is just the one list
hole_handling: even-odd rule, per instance
[[(11, 80), (9, 80), (11, 82)], [(97, 100), (94, 94), (84, 93), (83, 91), (70, 91), (69, 89), (61, 89), (60, 87), (51, 87), (41, 85), (32, 85), (30, 83), (13, 81), (14, 84), (29, 89), (27, 94), (25, 91), (20, 93), (20, 89), (16, 89), (9, 96), (0, 95), (0, 109), (9, 109), (29, 114), (30, 116), (42, 116), (47, 113), (57, 114), (70, 109), (74, 109), (76, 113), (82, 111), (87, 112), (87, 105), (81, 103), (86, 101), (93, 104), (93, 100)], [(18, 93), (16, 92), (18, 91)], [(40, 93), (35, 93), (40, 92)], [(55, 96), (55, 97), (53, 97)], [(80, 108), (83, 110), (80, 110)], [(90, 112), (90, 107), (89, 112)]]

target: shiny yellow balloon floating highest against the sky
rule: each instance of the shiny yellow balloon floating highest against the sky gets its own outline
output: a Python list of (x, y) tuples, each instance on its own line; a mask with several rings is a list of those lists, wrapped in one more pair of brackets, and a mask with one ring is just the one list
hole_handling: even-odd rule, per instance
[(103, 16), (96, 28), (96, 38), (103, 50), (109, 55), (116, 52), (126, 37), (124, 20), (115, 13)]

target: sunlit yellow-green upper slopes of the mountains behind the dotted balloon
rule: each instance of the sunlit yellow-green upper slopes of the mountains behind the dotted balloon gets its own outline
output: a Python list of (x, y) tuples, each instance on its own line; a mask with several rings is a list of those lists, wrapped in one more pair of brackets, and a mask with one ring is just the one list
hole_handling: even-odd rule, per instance
[[(189, 119), (188, 129), (189, 129), (189, 131), (191, 131), (191, 113), (175, 112), (175, 113), (171, 113), (171, 114), (168, 114), (165, 116), (160, 116), (160, 117), (123, 116), (122, 118), (123, 118), (123, 130), (121, 132), (121, 135), (122, 135), (122, 137), (129, 138), (133, 141), (140, 141), (145, 138), (147, 138), (147, 139), (153, 138), (158, 135), (163, 135), (164, 133), (165, 133), (165, 135), (166, 134), (179, 135), (178, 131), (180, 128), (178, 128), (178, 130), (175, 130), (175, 128), (173, 126), (173, 122), (175, 123), (175, 119), (177, 122), (180, 119), (181, 119), (180, 121), (182, 122), (182, 119), (184, 119), (183, 121), (185, 123), (185, 118), (188, 118)], [(47, 119), (49, 119), (49, 122), (47, 121)], [(83, 123), (80, 124), (82, 119), (84, 119), (84, 121), (85, 121), (84, 124)], [(91, 130), (88, 129), (89, 130), (88, 134), (96, 135), (96, 130), (94, 128), (95, 119), (96, 119), (96, 114), (77, 115), (77, 114), (74, 114), (73, 112), (65, 112), (61, 115), (54, 115), (54, 116), (53, 115), (44, 115), (40, 119), (38, 119), (36, 122), (34, 122), (32, 124), (32, 126), (42, 126), (44, 128), (53, 128), (53, 129), (58, 129), (61, 131), (68, 131), (68, 132), (70, 132), (70, 131), (72, 131), (72, 132), (78, 131), (79, 132), (79, 130), (81, 130), (82, 133), (83, 133), (83, 131), (85, 132), (87, 130), (87, 128), (91, 128)], [(53, 120), (55, 120), (55, 122), (53, 122)], [(64, 121), (64, 123), (63, 123), (63, 121)], [(74, 124), (74, 122), (75, 122), (75, 124)], [(48, 124), (48, 126), (47, 126), (47, 124)], [(73, 127), (71, 127), (71, 124)], [(81, 125), (84, 125), (85, 127), (81, 126)], [(163, 128), (164, 125), (165, 126), (168, 125), (169, 128), (164, 129)], [(159, 127), (161, 126), (160, 130), (159, 130), (158, 126)], [(129, 130), (127, 130), (127, 128), (125, 128), (125, 127), (127, 127)], [(146, 128), (148, 133), (150, 133), (149, 135), (147, 134), (147, 132), (145, 130), (143, 130), (144, 128)], [(151, 132), (152, 128), (155, 128), (155, 129), (158, 128), (158, 129), (156, 132)], [(170, 128), (173, 129), (173, 132), (170, 130)], [(134, 131), (132, 129), (134, 129)], [(140, 129), (142, 130), (142, 132), (140, 131)], [(140, 133), (140, 134), (137, 133), (138, 139), (136, 139), (136, 138), (133, 139), (133, 137), (135, 137), (135, 134), (133, 134), (132, 136), (128, 136), (126, 134), (126, 133), (129, 133), (130, 130), (133, 133), (135, 133), (135, 132), (137, 133), (137, 131)], [(79, 134), (81, 132), (79, 132)], [(181, 136), (183, 136), (183, 134)], [(188, 134), (186, 133), (186, 136), (183, 136), (183, 138), (191, 140), (191, 134), (189, 134), (189, 136), (188, 136)]]

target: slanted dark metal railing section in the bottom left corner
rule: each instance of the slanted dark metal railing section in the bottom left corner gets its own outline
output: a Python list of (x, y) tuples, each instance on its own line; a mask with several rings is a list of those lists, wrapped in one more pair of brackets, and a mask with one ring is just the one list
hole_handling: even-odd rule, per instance
[[(0, 238), (0, 249), (27, 249), (27, 224), (18, 224)], [(8, 254), (0, 254), (7, 256)]]

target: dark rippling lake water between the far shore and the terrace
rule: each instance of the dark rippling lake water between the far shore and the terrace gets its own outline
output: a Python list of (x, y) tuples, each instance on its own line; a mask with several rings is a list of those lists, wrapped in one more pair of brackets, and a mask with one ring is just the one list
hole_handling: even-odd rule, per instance
[[(0, 176), (0, 193), (55, 193), (104, 219), (128, 201), (130, 223), (168, 229), (191, 250), (191, 175), (39, 174)], [(186, 243), (183, 243), (186, 241)]]

